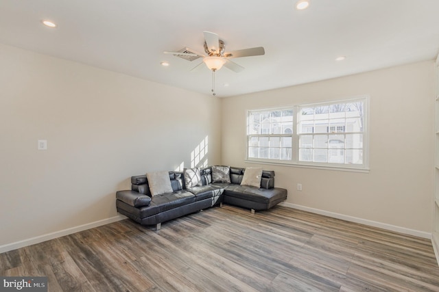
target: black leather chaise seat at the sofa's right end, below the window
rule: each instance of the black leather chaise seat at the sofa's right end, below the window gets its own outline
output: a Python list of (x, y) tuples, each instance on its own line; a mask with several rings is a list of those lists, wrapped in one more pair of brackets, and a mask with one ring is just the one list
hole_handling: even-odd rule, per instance
[(224, 195), (239, 198), (241, 200), (268, 204), (269, 202), (285, 200), (287, 192), (284, 189), (278, 188), (260, 189), (257, 187), (248, 187), (246, 185), (237, 185), (236, 187), (226, 188)]

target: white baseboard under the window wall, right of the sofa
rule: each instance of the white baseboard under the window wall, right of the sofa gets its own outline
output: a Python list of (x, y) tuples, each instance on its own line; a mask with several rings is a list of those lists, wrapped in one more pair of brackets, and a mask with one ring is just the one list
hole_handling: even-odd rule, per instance
[(376, 221), (372, 221), (372, 220), (361, 219), (358, 217), (352, 217), (352, 216), (343, 215), (343, 214), (339, 214), (339, 213), (333, 213), (333, 212), (324, 211), (324, 210), (320, 210), (320, 209), (309, 208), (309, 207), (301, 206), (298, 204), (292, 204), (292, 203), (288, 203), (288, 202), (281, 202), (280, 204), (282, 206), (285, 206), (285, 207), (299, 209), (302, 211), (316, 213), (319, 215), (333, 217), (333, 218), (337, 218), (337, 219), (341, 219), (341, 220), (346, 220), (349, 222), (355, 222), (355, 223), (359, 223), (359, 224), (364, 224), (364, 225), (368, 225), (368, 226), (382, 228), (385, 230), (394, 231), (397, 233), (403, 233), (403, 234), (407, 234), (407, 235), (413, 235), (416, 237), (431, 239), (431, 233), (426, 233), (426, 232), (419, 231), (419, 230), (404, 228), (404, 227), (400, 227), (400, 226), (394, 226), (391, 224), (385, 224), (385, 223), (376, 222)]

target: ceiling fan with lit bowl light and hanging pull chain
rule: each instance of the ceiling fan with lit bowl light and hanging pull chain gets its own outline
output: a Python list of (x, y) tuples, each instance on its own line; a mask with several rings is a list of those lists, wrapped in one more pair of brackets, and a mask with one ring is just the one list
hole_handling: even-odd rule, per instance
[[(215, 95), (215, 88), (214, 88), (215, 71), (221, 69), (223, 65), (224, 67), (234, 72), (241, 72), (242, 70), (244, 70), (243, 66), (230, 61), (230, 59), (237, 57), (251, 57), (251, 56), (265, 54), (265, 50), (263, 49), (263, 47), (254, 47), (250, 49), (241, 49), (237, 51), (226, 52), (226, 44), (224, 44), (223, 40), (219, 40), (217, 34), (210, 31), (203, 31), (203, 34), (204, 34), (204, 52), (206, 52), (207, 55), (196, 53), (195, 51), (188, 48), (183, 48), (178, 52), (164, 51), (163, 53), (172, 54), (175, 55), (176, 57), (181, 57), (189, 61), (193, 61), (194, 59), (198, 59), (202, 57), (203, 62), (195, 66), (195, 68), (198, 68), (198, 66), (204, 63), (206, 64), (207, 68), (209, 68), (209, 70), (212, 70), (213, 95)], [(192, 70), (194, 70), (195, 68), (193, 68)]]

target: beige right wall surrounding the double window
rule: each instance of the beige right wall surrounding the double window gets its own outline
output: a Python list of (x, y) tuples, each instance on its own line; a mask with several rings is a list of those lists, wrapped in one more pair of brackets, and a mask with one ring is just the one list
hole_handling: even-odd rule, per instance
[[(276, 171), (287, 203), (431, 233), (434, 62), (224, 98), (222, 163), (254, 166), (246, 154), (246, 110), (370, 96), (370, 172), (262, 165)], [(297, 183), (303, 190), (296, 191)]]

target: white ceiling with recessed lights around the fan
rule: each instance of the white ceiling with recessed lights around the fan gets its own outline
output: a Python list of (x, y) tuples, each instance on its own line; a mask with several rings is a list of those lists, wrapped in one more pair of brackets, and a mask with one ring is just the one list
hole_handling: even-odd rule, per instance
[[(211, 72), (190, 71), (201, 59), (163, 51), (204, 53), (204, 30), (217, 33), (226, 51), (264, 47), (263, 56), (233, 59), (246, 70), (217, 71), (219, 97), (438, 54), (439, 0), (311, 0), (302, 11), (296, 1), (0, 0), (0, 42), (203, 94), (211, 94)], [(346, 59), (336, 62), (340, 55)]]

